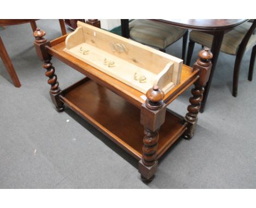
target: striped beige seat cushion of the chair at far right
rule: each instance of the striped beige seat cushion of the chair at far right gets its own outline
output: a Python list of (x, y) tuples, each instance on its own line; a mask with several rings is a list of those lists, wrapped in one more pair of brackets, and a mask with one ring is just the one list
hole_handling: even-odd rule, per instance
[[(220, 51), (236, 55), (239, 45), (252, 26), (251, 22), (245, 22), (242, 25), (230, 30), (224, 35)], [(203, 46), (211, 47), (213, 35), (193, 30), (190, 32), (189, 39)], [(246, 46), (246, 51), (256, 44), (256, 35), (252, 35)]]

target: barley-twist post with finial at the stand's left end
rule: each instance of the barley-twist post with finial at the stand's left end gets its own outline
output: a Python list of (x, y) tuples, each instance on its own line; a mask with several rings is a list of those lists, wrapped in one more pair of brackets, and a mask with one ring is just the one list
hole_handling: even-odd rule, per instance
[(62, 112), (64, 110), (63, 102), (60, 100), (61, 89), (59, 88), (59, 82), (57, 82), (57, 76), (55, 74), (55, 68), (51, 61), (51, 56), (46, 51), (45, 46), (49, 45), (49, 41), (44, 38), (45, 32), (36, 29), (34, 32), (34, 37), (36, 40), (34, 41), (34, 46), (36, 47), (36, 51), (38, 57), (43, 61), (43, 68), (47, 71), (45, 72), (45, 76), (49, 77), (48, 84), (51, 85), (50, 96), (54, 105), (56, 106), (57, 111)]

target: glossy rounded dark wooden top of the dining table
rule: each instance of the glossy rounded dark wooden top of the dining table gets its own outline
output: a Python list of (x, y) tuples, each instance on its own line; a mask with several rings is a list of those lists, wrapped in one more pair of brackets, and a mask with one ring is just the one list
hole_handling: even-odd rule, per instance
[(225, 31), (241, 25), (248, 19), (162, 19), (154, 21), (201, 31)]

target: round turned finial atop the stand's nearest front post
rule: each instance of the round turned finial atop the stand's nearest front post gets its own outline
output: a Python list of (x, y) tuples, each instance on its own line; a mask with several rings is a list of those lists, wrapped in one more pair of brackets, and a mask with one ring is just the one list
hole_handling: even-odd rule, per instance
[(159, 89), (158, 85), (154, 85), (153, 88), (150, 88), (147, 93), (146, 105), (150, 109), (158, 109), (162, 106), (165, 93)]

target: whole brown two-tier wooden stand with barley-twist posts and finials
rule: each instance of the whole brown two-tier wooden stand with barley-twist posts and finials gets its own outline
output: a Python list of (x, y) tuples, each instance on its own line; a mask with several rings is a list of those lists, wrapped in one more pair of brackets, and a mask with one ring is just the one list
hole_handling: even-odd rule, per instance
[[(50, 96), (57, 111), (63, 111), (65, 105), (78, 113), (139, 161), (138, 170), (143, 181), (152, 180), (158, 159), (166, 150), (179, 137), (190, 139), (193, 136), (203, 87), (211, 71), (211, 52), (201, 51), (193, 68), (183, 65), (181, 82), (166, 95), (154, 86), (147, 91), (145, 101), (140, 91), (63, 52), (67, 35), (53, 41), (47, 41), (44, 35), (43, 30), (37, 29), (34, 45), (46, 69), (45, 75), (49, 77)], [(86, 77), (61, 90), (51, 57)], [(193, 96), (184, 118), (166, 109), (193, 84)]]

